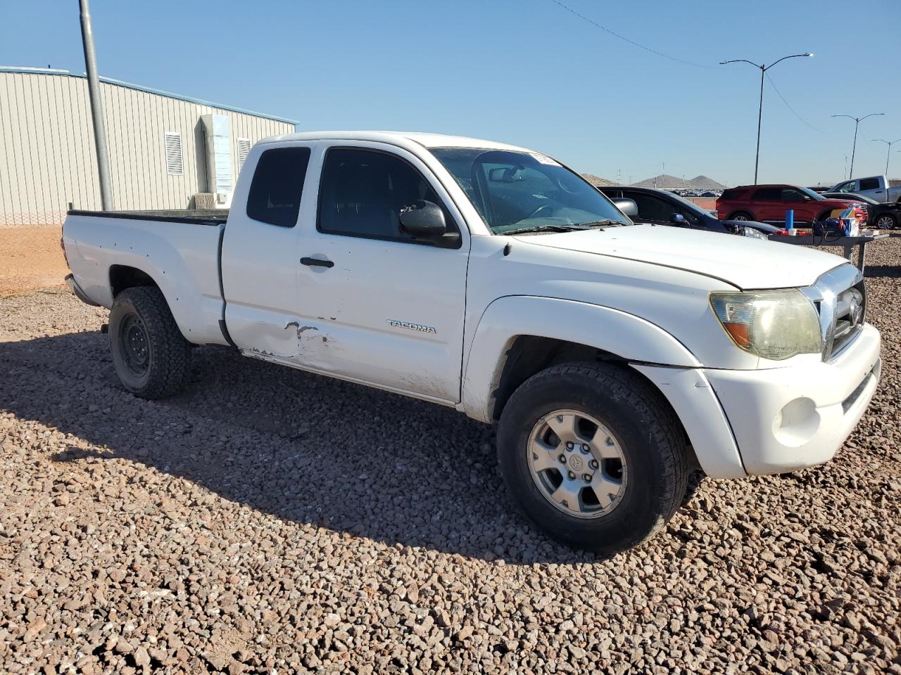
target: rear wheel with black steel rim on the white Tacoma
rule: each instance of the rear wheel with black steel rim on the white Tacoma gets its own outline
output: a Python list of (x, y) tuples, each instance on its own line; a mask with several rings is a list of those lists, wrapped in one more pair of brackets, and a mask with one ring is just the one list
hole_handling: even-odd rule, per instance
[(109, 338), (115, 372), (135, 396), (163, 399), (185, 386), (191, 345), (158, 288), (128, 288), (116, 296)]

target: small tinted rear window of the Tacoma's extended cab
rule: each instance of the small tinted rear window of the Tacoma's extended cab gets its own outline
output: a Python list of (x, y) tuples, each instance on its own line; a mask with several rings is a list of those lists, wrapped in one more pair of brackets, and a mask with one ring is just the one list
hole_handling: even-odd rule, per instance
[(310, 148), (272, 148), (260, 155), (247, 197), (248, 217), (293, 228), (309, 162)]

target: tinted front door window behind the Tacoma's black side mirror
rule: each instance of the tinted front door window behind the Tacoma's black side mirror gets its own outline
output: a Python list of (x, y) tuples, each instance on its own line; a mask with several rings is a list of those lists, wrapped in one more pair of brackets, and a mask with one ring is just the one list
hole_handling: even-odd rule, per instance
[[(432, 186), (413, 166), (376, 150), (330, 149), (319, 190), (319, 230), (347, 237), (415, 242), (400, 230), (401, 211), (419, 200), (443, 209)], [(446, 209), (444, 220), (449, 230), (454, 229)]]

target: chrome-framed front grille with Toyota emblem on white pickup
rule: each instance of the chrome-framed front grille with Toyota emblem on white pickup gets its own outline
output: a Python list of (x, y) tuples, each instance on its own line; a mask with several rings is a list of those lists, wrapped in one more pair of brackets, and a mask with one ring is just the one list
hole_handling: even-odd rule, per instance
[(857, 267), (842, 265), (827, 272), (804, 293), (820, 315), (823, 360), (839, 356), (860, 334), (867, 310), (867, 289)]

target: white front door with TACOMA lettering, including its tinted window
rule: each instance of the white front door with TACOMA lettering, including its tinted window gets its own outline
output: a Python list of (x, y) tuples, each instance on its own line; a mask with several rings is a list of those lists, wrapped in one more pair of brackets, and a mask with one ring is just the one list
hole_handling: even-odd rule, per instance
[(398, 220), (416, 199), (439, 200), (461, 224), (459, 211), (405, 150), (365, 142), (331, 149), (319, 151), (318, 222), (334, 231), (305, 222), (299, 256), (333, 266), (300, 266), (299, 363), (459, 401), (469, 233), (460, 227), (459, 248), (428, 246), (403, 236)]

